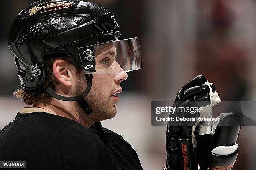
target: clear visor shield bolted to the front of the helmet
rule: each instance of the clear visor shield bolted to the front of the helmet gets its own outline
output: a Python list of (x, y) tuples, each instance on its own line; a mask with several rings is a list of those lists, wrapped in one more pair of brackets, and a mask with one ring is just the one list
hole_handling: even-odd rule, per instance
[(141, 69), (138, 38), (79, 48), (85, 73), (115, 75)]

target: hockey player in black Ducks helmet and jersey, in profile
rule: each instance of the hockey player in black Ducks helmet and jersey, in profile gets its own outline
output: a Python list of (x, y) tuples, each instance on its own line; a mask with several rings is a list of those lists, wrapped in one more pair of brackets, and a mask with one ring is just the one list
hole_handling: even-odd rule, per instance
[[(22, 87), (14, 95), (32, 106), (21, 110), (0, 131), (1, 161), (26, 161), (31, 170), (142, 169), (136, 151), (122, 136), (100, 124), (115, 116), (116, 94), (122, 91), (120, 83), (127, 78), (126, 72), (141, 68), (138, 39), (119, 37), (113, 13), (90, 2), (41, 0), (18, 15), (8, 43)], [(201, 99), (200, 94), (210, 100), (202, 85), (205, 81), (194, 82), (183, 87), (177, 100), (188, 100), (185, 89), (195, 100)], [(195, 169), (194, 160), (203, 158), (194, 152), (200, 142), (197, 147), (192, 145), (192, 128), (168, 127), (167, 169)], [(184, 145), (186, 151), (179, 148)], [(183, 152), (188, 159), (181, 161)], [(236, 154), (232, 153), (233, 162)], [(224, 162), (212, 155), (209, 158), (203, 166)]]

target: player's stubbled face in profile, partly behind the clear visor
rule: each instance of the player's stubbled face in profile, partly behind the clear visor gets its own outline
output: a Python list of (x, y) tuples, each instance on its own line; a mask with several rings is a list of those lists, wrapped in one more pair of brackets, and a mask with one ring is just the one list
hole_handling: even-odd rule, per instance
[(115, 61), (116, 55), (115, 46), (111, 43), (97, 47), (95, 59), (97, 74), (93, 75), (92, 88), (86, 99), (93, 112), (98, 114), (97, 118), (101, 120), (116, 115), (115, 104), (119, 100), (116, 93), (122, 92), (120, 84), (128, 77)]

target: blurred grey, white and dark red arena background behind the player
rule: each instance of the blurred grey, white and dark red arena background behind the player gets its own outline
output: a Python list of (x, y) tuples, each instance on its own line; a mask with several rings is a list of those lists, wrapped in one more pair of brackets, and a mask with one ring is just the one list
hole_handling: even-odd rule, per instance
[[(174, 100), (198, 74), (215, 83), (222, 100), (256, 99), (256, 0), (88, 0), (113, 10), (121, 38), (138, 37), (142, 69), (128, 73), (118, 114), (103, 125), (137, 151), (145, 170), (162, 170), (166, 127), (151, 126), (151, 100)], [(25, 105), (8, 49), (10, 25), (36, 0), (8, 0), (0, 10), (0, 129)], [(256, 117), (256, 116), (255, 116)], [(20, 127), (22, 128), (22, 127)], [(241, 128), (233, 170), (252, 170), (256, 127)]]

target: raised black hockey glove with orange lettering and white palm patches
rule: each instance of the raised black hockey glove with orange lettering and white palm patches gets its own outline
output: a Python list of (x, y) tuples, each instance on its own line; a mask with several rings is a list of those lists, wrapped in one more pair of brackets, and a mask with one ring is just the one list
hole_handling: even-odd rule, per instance
[[(204, 75), (198, 75), (187, 82), (177, 94), (174, 106), (193, 107), (190, 101), (205, 101), (204, 107), (212, 107), (215, 85), (206, 83)], [(217, 94), (218, 95), (218, 94)], [(181, 113), (179, 113), (181, 114)], [(180, 117), (181, 115), (179, 115)], [(183, 113), (184, 117), (201, 116)], [(211, 115), (210, 115), (211, 116)], [(223, 115), (222, 115), (223, 116)], [(223, 116), (224, 117), (224, 116)], [(168, 122), (166, 131), (167, 170), (230, 170), (236, 161), (238, 145), (236, 139), (240, 130), (239, 117), (227, 115), (216, 126), (200, 126), (201, 122), (180, 122), (172, 126)], [(236, 122), (237, 126), (229, 125)], [(231, 125), (231, 124), (230, 124)], [(206, 127), (206, 128), (205, 128)], [(202, 131), (205, 131), (202, 133)], [(208, 133), (207, 133), (208, 131)], [(229, 133), (228, 133), (229, 132)], [(212, 135), (213, 134), (213, 135)]]

